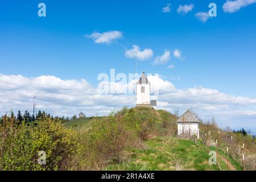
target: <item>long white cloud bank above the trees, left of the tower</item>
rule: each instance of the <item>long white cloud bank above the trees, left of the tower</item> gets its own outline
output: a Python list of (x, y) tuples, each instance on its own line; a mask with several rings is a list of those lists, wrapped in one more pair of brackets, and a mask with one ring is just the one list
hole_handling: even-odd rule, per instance
[(0, 114), (14, 111), (32, 111), (36, 96), (37, 110), (54, 115), (109, 114), (115, 107), (131, 105), (135, 98), (129, 95), (101, 94), (88, 81), (62, 80), (55, 76), (24, 77), (0, 74)]

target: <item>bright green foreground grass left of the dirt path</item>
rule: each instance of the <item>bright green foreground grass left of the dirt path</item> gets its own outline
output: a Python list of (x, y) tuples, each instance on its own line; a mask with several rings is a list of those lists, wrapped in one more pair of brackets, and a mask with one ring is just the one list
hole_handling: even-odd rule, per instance
[[(113, 170), (219, 170), (209, 165), (207, 147), (192, 140), (155, 138), (146, 141), (145, 149), (130, 148), (129, 163), (122, 167), (110, 165)], [(127, 168), (126, 168), (127, 167)]]

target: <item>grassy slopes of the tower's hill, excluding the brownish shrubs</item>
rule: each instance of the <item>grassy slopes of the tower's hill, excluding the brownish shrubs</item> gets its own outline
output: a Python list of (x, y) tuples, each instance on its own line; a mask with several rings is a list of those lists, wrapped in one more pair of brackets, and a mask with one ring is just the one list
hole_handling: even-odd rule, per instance
[[(219, 151), (218, 165), (210, 165), (210, 150), (216, 150), (203, 144), (201, 140), (176, 138), (176, 121), (178, 117), (165, 110), (154, 110), (147, 107), (124, 109), (114, 117), (127, 113), (135, 113), (141, 123), (152, 125), (149, 137), (138, 146), (125, 147), (122, 159), (118, 162), (109, 160), (103, 169), (107, 170), (225, 170), (227, 169), (226, 154)], [(93, 123), (111, 122), (108, 117), (80, 118), (64, 123), (77, 133), (89, 133)], [(110, 129), (111, 130), (111, 129)], [(103, 130), (101, 130), (102, 132)], [(105, 129), (104, 129), (105, 131)], [(96, 134), (97, 130), (94, 131)], [(100, 132), (100, 131), (99, 131)], [(94, 134), (95, 134), (94, 133)], [(110, 131), (111, 133), (111, 131)], [(122, 134), (121, 134), (122, 135)], [(122, 136), (121, 136), (122, 137)], [(111, 138), (111, 137), (110, 137)], [(112, 143), (113, 144), (113, 143)], [(103, 150), (103, 149), (100, 149)], [(241, 170), (241, 164), (229, 156), (229, 169)]]

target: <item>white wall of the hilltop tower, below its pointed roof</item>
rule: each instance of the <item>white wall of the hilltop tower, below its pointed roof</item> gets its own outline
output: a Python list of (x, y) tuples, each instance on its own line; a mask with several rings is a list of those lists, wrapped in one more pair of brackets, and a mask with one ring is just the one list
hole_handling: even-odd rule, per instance
[[(141, 93), (141, 87), (145, 87), (145, 93)], [(149, 84), (137, 84), (137, 104), (150, 104), (150, 85)]]

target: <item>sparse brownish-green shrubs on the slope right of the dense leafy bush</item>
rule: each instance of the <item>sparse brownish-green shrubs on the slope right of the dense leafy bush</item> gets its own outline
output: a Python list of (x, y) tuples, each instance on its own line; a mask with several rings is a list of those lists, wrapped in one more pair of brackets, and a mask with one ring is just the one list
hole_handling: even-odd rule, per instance
[(104, 119), (95, 119), (86, 137), (86, 145), (82, 144), (88, 160), (93, 159), (92, 163), (97, 163), (96, 166), (100, 168), (107, 163), (121, 162), (125, 148), (134, 146), (139, 140), (137, 127), (130, 120), (130, 114), (115, 116), (112, 113)]

